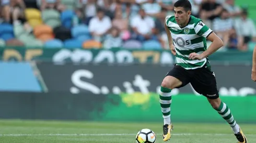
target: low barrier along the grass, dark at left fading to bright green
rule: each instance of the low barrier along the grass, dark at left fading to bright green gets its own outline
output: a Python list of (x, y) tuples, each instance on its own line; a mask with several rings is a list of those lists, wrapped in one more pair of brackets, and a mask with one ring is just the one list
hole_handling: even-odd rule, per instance
[[(158, 94), (0, 93), (0, 118), (162, 122)], [(222, 97), (239, 123), (256, 123), (256, 96)], [(225, 123), (205, 97), (172, 97), (173, 122)]]

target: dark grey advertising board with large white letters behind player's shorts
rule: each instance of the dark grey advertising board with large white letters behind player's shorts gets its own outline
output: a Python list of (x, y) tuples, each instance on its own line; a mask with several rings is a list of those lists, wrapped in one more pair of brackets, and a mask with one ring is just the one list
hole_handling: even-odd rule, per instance
[[(89, 94), (142, 94), (158, 93), (162, 79), (172, 66), (149, 64), (73, 64), (57, 65), (38, 62), (43, 83), (49, 92)], [(251, 67), (238, 65), (214, 65), (217, 86), (221, 96), (256, 95), (255, 83), (251, 80)], [(173, 89), (172, 95), (195, 94), (192, 86)]]

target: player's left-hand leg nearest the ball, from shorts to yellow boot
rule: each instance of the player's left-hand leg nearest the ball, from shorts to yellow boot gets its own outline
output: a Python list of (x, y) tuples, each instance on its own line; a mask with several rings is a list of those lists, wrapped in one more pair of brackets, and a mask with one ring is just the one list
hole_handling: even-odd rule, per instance
[(167, 141), (171, 138), (170, 131), (173, 128), (171, 124), (171, 90), (173, 88), (180, 88), (189, 83), (189, 76), (185, 69), (180, 66), (174, 68), (167, 73), (166, 77), (161, 83), (159, 94), (159, 102), (161, 106), (162, 117), (164, 118), (162, 138)]

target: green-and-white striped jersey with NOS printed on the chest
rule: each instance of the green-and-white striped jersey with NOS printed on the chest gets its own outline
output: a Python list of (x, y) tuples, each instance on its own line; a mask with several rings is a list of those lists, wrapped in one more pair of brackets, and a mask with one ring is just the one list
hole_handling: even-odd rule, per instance
[(174, 16), (167, 16), (166, 25), (171, 32), (176, 49), (176, 61), (179, 66), (191, 70), (201, 68), (206, 62), (208, 63), (206, 58), (202, 60), (189, 59), (189, 54), (201, 54), (206, 50), (206, 37), (212, 33), (212, 30), (201, 19), (190, 16), (187, 26), (180, 28)]

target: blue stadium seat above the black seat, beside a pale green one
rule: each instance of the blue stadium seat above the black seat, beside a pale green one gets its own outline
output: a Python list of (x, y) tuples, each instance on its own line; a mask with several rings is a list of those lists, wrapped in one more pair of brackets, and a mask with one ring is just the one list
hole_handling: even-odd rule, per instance
[(64, 27), (71, 29), (72, 19), (75, 15), (73, 10), (65, 10), (61, 13), (61, 23)]

